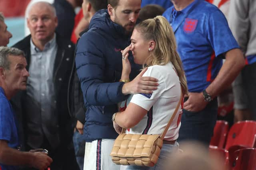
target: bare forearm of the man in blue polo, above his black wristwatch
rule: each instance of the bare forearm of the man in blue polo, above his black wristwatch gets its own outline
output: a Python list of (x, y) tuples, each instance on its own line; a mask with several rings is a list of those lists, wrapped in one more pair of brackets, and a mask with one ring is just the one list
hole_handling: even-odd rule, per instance
[(212, 98), (227, 88), (236, 78), (245, 65), (244, 57), (240, 49), (232, 49), (226, 53), (226, 61), (214, 81), (206, 88)]

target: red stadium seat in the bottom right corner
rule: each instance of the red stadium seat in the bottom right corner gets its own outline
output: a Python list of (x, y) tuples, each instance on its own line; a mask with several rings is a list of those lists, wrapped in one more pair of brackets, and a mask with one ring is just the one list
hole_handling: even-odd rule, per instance
[(247, 148), (236, 150), (232, 170), (256, 170), (256, 149)]

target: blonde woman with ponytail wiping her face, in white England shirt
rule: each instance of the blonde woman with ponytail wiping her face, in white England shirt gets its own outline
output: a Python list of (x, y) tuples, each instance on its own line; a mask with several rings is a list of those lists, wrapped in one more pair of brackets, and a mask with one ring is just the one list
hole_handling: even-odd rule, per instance
[[(182, 94), (187, 93), (187, 84), (180, 57), (176, 51), (174, 33), (168, 21), (157, 16), (142, 21), (134, 28), (131, 45), (122, 51), (123, 70), (121, 81), (127, 81), (131, 71), (128, 51), (132, 52), (134, 62), (146, 67), (143, 76), (158, 79), (157, 90), (150, 94), (135, 94), (125, 111), (114, 113), (114, 127), (120, 133), (120, 127), (130, 129), (133, 134), (159, 134), (164, 131)], [(136, 87), (135, 87), (136, 88)], [(182, 94), (181, 94), (182, 90)], [(125, 94), (125, 88), (123, 89)], [(154, 167), (127, 166), (126, 170), (163, 169), (163, 161), (172, 150), (178, 149), (180, 129), (180, 111), (174, 117), (162, 147), (158, 163)]]

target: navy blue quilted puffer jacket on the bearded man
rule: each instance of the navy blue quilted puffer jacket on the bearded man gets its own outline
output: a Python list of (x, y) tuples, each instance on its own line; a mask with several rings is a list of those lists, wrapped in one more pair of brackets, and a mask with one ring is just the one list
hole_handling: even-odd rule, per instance
[[(115, 139), (118, 134), (112, 124), (112, 115), (117, 112), (117, 103), (128, 96), (122, 94), (123, 82), (118, 82), (122, 73), (121, 49), (130, 45), (130, 35), (110, 20), (107, 10), (100, 10), (90, 21), (89, 31), (77, 43), (76, 68), (86, 106), (84, 139)], [(141, 68), (132, 65), (130, 79)]]

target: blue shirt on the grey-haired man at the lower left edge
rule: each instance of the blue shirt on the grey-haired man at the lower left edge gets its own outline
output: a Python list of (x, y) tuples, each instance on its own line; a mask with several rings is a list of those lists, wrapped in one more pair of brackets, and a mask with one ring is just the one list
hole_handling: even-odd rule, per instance
[[(18, 132), (12, 106), (0, 87), (0, 140), (8, 142), (8, 146), (17, 149), (19, 146)], [(0, 164), (2, 170), (17, 170), (17, 166)]]

